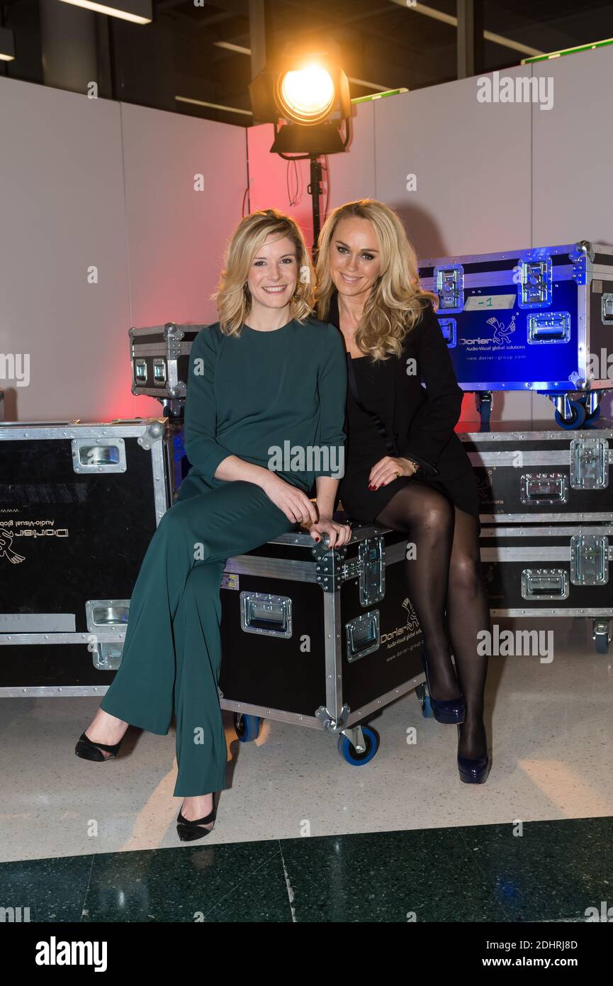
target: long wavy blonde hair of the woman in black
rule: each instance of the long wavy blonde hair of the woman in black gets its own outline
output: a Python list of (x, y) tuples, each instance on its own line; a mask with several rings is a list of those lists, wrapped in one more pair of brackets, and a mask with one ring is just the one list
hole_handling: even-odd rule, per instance
[(427, 299), (435, 310), (439, 297), (420, 287), (417, 254), (409, 242), (400, 216), (384, 202), (361, 198), (334, 209), (326, 219), (317, 242), (317, 317), (325, 321), (330, 299), (336, 290), (330, 275), (330, 250), (334, 231), (342, 219), (368, 219), (375, 228), (381, 273), (356, 332), (356, 344), (374, 360), (400, 356), (405, 336), (420, 321)]

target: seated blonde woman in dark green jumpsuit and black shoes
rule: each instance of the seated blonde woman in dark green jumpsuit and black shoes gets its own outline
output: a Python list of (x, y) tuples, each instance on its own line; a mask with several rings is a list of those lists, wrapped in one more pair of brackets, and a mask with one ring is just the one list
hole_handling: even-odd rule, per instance
[(300, 524), (330, 546), (351, 536), (332, 520), (344, 465), (345, 350), (333, 325), (310, 317), (312, 285), (293, 219), (267, 209), (241, 220), (214, 296), (220, 321), (192, 344), (191, 469), (143, 559), (121, 665), (75, 748), (110, 758), (129, 724), (166, 736), (174, 709), (182, 840), (211, 831), (214, 794), (226, 787), (218, 679), (227, 558)]

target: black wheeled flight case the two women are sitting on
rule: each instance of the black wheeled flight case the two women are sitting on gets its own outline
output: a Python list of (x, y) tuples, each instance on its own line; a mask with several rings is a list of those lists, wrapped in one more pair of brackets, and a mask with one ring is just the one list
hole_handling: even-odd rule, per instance
[(378, 741), (366, 719), (412, 689), (429, 714), (406, 550), (406, 537), (369, 526), (339, 549), (290, 532), (228, 559), (221, 705), (242, 740), (260, 718), (294, 723), (339, 734), (345, 759), (364, 763)]

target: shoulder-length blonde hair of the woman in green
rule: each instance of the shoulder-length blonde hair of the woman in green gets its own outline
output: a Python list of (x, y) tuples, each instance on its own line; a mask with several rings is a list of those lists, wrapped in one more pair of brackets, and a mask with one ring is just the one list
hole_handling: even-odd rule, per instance
[(278, 209), (259, 209), (240, 220), (226, 251), (218, 290), (211, 295), (217, 302), (220, 328), (225, 335), (240, 335), (240, 328), (251, 310), (247, 277), (253, 257), (266, 237), (289, 237), (296, 246), (298, 281), (290, 302), (290, 318), (304, 322), (314, 305), (314, 271), (300, 227)]

